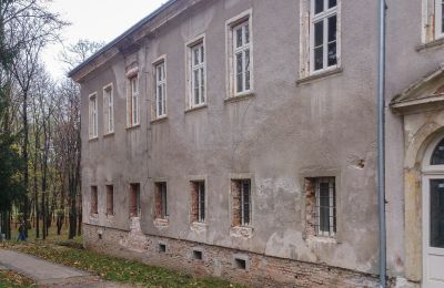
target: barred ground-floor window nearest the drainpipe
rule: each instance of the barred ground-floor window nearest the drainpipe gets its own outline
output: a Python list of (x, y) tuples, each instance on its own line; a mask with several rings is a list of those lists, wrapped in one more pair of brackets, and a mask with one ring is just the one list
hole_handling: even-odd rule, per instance
[(334, 177), (316, 178), (315, 226), (317, 236), (336, 234), (336, 192)]

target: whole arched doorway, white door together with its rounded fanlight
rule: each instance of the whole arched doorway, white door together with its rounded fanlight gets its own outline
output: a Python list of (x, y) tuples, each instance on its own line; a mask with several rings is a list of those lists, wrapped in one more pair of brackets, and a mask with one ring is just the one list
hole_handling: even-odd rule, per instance
[(444, 288), (444, 135), (425, 151), (422, 172), (423, 287)]

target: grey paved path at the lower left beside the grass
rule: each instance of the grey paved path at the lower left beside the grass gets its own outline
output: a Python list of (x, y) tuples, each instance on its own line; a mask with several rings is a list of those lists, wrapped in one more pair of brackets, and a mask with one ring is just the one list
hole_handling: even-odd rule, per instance
[(36, 280), (40, 287), (129, 287), (104, 282), (85, 271), (6, 249), (0, 249), (1, 268), (24, 275)]

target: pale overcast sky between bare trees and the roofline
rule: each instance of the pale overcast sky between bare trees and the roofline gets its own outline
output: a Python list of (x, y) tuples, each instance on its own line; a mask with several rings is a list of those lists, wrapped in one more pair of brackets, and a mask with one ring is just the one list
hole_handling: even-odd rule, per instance
[[(62, 32), (63, 44), (79, 39), (110, 42), (167, 0), (53, 0), (50, 8), (71, 23)], [(58, 61), (62, 44), (48, 47), (43, 61), (54, 78), (64, 72)]]

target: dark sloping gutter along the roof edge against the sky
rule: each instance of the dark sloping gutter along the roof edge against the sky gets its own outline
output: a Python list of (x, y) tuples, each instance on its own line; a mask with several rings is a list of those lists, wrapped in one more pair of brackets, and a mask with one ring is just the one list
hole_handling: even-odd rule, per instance
[(179, 0), (169, 0), (167, 3), (162, 4), (160, 8), (158, 8), (154, 12), (152, 12), (151, 14), (147, 16), (145, 18), (143, 18), (142, 20), (140, 20), (138, 23), (135, 23), (134, 25), (132, 25), (130, 29), (128, 29), (125, 32), (123, 32), (122, 34), (120, 34), (119, 37), (117, 37), (114, 40), (112, 40), (111, 42), (109, 42), (107, 45), (104, 45), (103, 48), (101, 48), (99, 51), (97, 51), (94, 54), (92, 54), (91, 56), (89, 56), (85, 61), (83, 61), (82, 63), (80, 63), (79, 65), (77, 65), (74, 69), (72, 69), (70, 72), (68, 72), (68, 76), (72, 78), (77, 72), (79, 72), (80, 70), (82, 70), (84, 66), (87, 66), (89, 63), (91, 63), (93, 60), (95, 60), (98, 56), (100, 56), (101, 54), (103, 54), (104, 52), (107, 52), (109, 49), (111, 49), (112, 47), (114, 47), (117, 43), (119, 43), (120, 41), (122, 41), (123, 39), (125, 39), (127, 37), (129, 37), (130, 34), (132, 34), (133, 32), (135, 32), (137, 30), (139, 30), (142, 25), (147, 24), (148, 22), (150, 22), (151, 20), (153, 20), (155, 17), (158, 17), (160, 13), (162, 13), (164, 10), (167, 10), (168, 8), (170, 8), (172, 4), (174, 4), (175, 2), (178, 2)]

